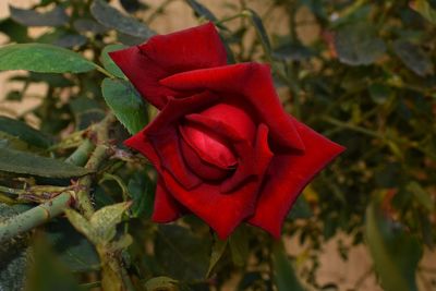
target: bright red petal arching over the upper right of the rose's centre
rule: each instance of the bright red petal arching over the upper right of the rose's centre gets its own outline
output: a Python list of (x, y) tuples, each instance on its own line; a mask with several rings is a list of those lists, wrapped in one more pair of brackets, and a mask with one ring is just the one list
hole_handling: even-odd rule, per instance
[[(241, 63), (204, 70), (195, 70), (171, 75), (160, 81), (177, 90), (209, 89), (232, 98), (242, 96), (259, 116), (278, 145), (304, 150), (294, 124), (284, 112), (274, 88), (269, 66), (259, 63)], [(223, 99), (223, 102), (226, 99)]]

